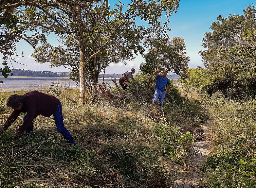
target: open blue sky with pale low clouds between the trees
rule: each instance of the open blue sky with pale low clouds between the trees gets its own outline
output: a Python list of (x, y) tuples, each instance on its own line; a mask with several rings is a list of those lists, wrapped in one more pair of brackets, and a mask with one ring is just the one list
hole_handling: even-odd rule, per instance
[[(112, 0), (109, 4), (112, 4)], [(251, 3), (255, 3), (247, 0), (180, 0), (179, 8), (176, 13), (170, 17), (169, 36), (181, 37), (186, 43), (186, 52), (190, 56), (189, 67), (196, 68), (197, 66), (204, 67), (201, 56), (198, 54), (199, 50), (204, 50), (202, 47), (202, 39), (205, 32), (210, 32), (209, 28), (213, 21), (217, 20), (219, 15), (227, 17), (232, 14), (243, 14), (243, 9), (246, 9)], [(166, 20), (166, 18), (163, 18)], [(50, 35), (48, 38), (50, 41), (56, 40), (54, 35)], [(57, 44), (57, 43), (56, 43)], [(59, 45), (59, 44), (57, 44)], [(30, 56), (33, 53), (33, 49), (26, 42), (20, 42), (17, 45), (18, 51), (23, 50), (24, 58), (16, 58), (20, 63), (26, 64), (20, 65), (13, 63), (14, 68), (28, 69), (28, 70), (41, 70), (41, 71), (58, 71), (69, 72), (64, 67), (50, 68), (49, 64), (39, 64), (33, 60)], [(123, 63), (110, 65), (106, 73), (107, 74), (122, 74), (123, 72), (135, 68), (137, 71), (138, 66), (145, 62), (142, 56), (138, 56), (133, 61), (127, 61), (127, 66)]]

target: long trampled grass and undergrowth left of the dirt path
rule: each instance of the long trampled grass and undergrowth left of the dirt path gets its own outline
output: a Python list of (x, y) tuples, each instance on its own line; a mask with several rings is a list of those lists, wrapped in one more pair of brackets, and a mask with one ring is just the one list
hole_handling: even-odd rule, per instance
[[(113, 102), (88, 96), (81, 106), (79, 91), (61, 91), (64, 124), (76, 146), (65, 143), (53, 117), (38, 116), (34, 133), (14, 137), (20, 115), (0, 135), (1, 187), (172, 187), (179, 178), (174, 166), (183, 165), (177, 153), (183, 157), (194, 149), (190, 130), (203, 124), (206, 114), (178, 93), (159, 107), (151, 103), (151, 91), (141, 91), (145, 97), (129, 91)], [(1, 92), (1, 124), (11, 113), (5, 102), (12, 93)]]

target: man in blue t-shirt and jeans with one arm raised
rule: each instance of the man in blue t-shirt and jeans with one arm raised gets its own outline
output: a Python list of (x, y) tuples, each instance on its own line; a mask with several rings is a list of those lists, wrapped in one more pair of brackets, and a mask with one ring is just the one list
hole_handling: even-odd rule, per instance
[(167, 89), (167, 94), (169, 94), (169, 79), (166, 77), (167, 71), (163, 71), (162, 76), (158, 75), (160, 71), (155, 72), (156, 76), (156, 84), (155, 84), (155, 94), (154, 98), (152, 99), (152, 102), (157, 102), (158, 98), (160, 100), (160, 105), (164, 102), (165, 97), (165, 86)]

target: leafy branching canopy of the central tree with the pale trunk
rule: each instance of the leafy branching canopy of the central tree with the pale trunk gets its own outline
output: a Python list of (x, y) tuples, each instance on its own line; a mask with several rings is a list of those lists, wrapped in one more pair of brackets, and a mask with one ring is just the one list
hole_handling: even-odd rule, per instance
[[(94, 85), (97, 83), (101, 68), (106, 67), (110, 62), (133, 60), (134, 53), (143, 53), (145, 46), (141, 45), (142, 39), (152, 36), (156, 39), (166, 37), (169, 20), (165, 23), (159, 21), (162, 12), (169, 17), (178, 7), (178, 0), (148, 2), (136, 0), (131, 1), (129, 5), (120, 1), (112, 9), (108, 1), (61, 1), (58, 4), (56, 2), (54, 4), (54, 1), (44, 1), (44, 3), (44, 6), (42, 4), (24, 6), (24, 9), (17, 10), (16, 14), (23, 27), (40, 28), (39, 31), (45, 35), (53, 32), (64, 44), (63, 50), (77, 49), (79, 77), (81, 78), (86, 70), (84, 66), (92, 67)], [(144, 21), (146, 26), (138, 26), (135, 23), (138, 18)], [(33, 38), (37, 36), (34, 35)], [(53, 56), (55, 49), (51, 44), (44, 43), (37, 50), (40, 51), (34, 53), (37, 61), (49, 62), (50, 58), (51, 65), (61, 65), (57, 63), (59, 55), (55, 53)], [(77, 53), (73, 54), (77, 55)]]

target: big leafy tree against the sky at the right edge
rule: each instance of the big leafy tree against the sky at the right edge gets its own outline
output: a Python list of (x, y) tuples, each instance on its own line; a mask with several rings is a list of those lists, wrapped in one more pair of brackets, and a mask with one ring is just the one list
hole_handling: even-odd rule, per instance
[(229, 72), (233, 77), (255, 77), (256, 7), (244, 15), (219, 16), (202, 40), (207, 50), (199, 51), (210, 72)]

